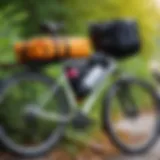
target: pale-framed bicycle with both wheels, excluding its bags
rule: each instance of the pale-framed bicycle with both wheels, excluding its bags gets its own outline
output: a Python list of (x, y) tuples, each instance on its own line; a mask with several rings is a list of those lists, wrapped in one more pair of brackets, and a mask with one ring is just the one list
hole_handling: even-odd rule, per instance
[[(91, 112), (94, 103), (104, 90), (108, 78), (114, 75), (117, 70), (115, 58), (106, 56), (104, 52), (103, 54), (97, 52), (97, 54), (86, 59), (85, 63), (88, 64), (88, 62), (93, 62), (93, 60), (97, 62), (100, 59), (106, 64), (104, 73), (94, 89), (87, 93), (87, 97), (85, 97), (84, 103), (82, 103), (82, 109), (78, 107), (77, 96), (66, 76), (66, 68), (68, 66), (69, 68), (82, 67), (82, 70), (84, 70), (84, 64), (79, 66), (78, 62), (75, 62), (78, 66), (75, 64), (72, 66), (71, 61), (65, 60), (64, 65), (60, 69), (62, 74), (57, 81), (44, 74), (39, 66), (33, 67), (33, 64), (29, 65), (24, 72), (15, 74), (5, 80), (0, 90), (0, 104), (7, 106), (7, 103), (9, 103), (8, 99), (14, 99), (14, 106), (18, 108), (16, 109), (17, 115), (12, 117), (12, 119), (19, 125), (16, 126), (11, 123), (10, 126), (12, 127), (7, 128), (6, 124), (1, 123), (0, 141), (2, 144), (12, 153), (25, 157), (36, 157), (44, 155), (56, 147), (65, 134), (66, 126), (71, 124), (71, 122), (74, 122), (76, 127), (82, 129), (85, 126), (88, 127), (90, 121), (87, 115)], [(100, 63), (102, 64), (102, 62)], [(28, 86), (25, 82), (28, 83)], [(31, 85), (34, 84), (36, 84), (36, 88), (32, 88), (32, 90)], [(44, 88), (40, 88), (38, 84), (43, 84)], [(22, 90), (22, 93), (19, 93), (20, 90)], [(13, 95), (8, 95), (8, 91), (10, 93), (13, 91)], [(42, 94), (40, 91), (42, 91)], [(31, 93), (34, 94), (31, 95)], [(141, 99), (142, 93), (147, 94), (144, 96), (145, 101)], [(22, 95), (25, 95), (26, 99), (22, 99)], [(56, 98), (54, 98), (55, 96)], [(37, 97), (39, 98), (37, 99)], [(134, 97), (137, 99), (135, 100)], [(159, 130), (160, 104), (157, 92), (148, 82), (130, 76), (120, 76), (113, 82), (103, 99), (104, 103), (101, 112), (102, 128), (116, 147), (124, 153), (140, 154), (146, 152), (155, 144)], [(55, 101), (52, 102), (52, 100)], [(11, 105), (13, 103), (11, 102)], [(51, 108), (47, 108), (50, 106)], [(13, 107), (11, 108), (13, 109)], [(55, 110), (52, 111), (52, 109)], [(147, 124), (147, 129), (144, 129), (146, 115), (147, 117), (152, 115), (150, 119), (152, 123), (150, 125)], [(137, 120), (139, 116), (140, 119)], [(2, 119), (3, 117), (4, 112), (1, 115)], [(118, 125), (118, 122), (125, 118), (132, 122), (130, 126), (135, 127), (134, 131), (133, 128), (131, 129), (132, 133), (126, 134), (128, 131), (126, 129), (122, 131), (123, 127)], [(144, 122), (139, 130), (137, 130), (136, 120), (138, 124), (139, 121)], [(18, 137), (13, 138), (10, 135), (14, 131), (18, 133)], [(132, 134), (133, 137), (130, 138)], [(148, 139), (146, 138), (147, 136), (149, 137)], [(45, 140), (36, 146), (35, 143), (40, 142), (42, 138)], [(141, 140), (142, 142), (140, 142)]]

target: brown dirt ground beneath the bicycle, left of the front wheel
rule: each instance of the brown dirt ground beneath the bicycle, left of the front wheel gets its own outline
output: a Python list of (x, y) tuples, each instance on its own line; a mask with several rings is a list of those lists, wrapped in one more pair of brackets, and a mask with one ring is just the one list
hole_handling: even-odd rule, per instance
[[(118, 155), (119, 152), (103, 133), (96, 133), (93, 141), (84, 145), (76, 142), (75, 154), (66, 149), (57, 148), (45, 157), (24, 160), (104, 160), (107, 156)], [(7, 153), (0, 154), (0, 160), (23, 160)]]

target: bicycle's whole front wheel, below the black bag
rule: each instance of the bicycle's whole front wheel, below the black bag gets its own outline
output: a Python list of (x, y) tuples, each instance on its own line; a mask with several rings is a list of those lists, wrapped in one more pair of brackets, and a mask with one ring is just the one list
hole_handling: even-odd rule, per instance
[(160, 103), (150, 84), (132, 78), (118, 80), (104, 102), (104, 131), (120, 151), (140, 154), (155, 144)]

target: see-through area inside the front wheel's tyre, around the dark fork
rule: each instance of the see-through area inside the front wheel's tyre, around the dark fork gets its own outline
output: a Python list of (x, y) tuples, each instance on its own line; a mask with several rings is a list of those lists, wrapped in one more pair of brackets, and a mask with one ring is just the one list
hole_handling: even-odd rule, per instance
[(114, 138), (121, 146), (139, 150), (153, 140), (157, 131), (157, 102), (153, 101), (155, 97), (145, 85), (133, 82), (128, 86), (138, 106), (138, 115), (131, 118), (125, 116), (117, 98), (118, 90), (122, 88), (117, 86), (110, 97), (109, 124)]

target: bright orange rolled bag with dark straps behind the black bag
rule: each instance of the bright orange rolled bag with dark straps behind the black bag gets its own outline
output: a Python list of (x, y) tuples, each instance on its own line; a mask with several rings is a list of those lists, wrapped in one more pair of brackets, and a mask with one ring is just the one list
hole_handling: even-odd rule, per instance
[(32, 38), (15, 44), (19, 62), (47, 62), (66, 58), (86, 58), (91, 54), (91, 44), (86, 38)]

